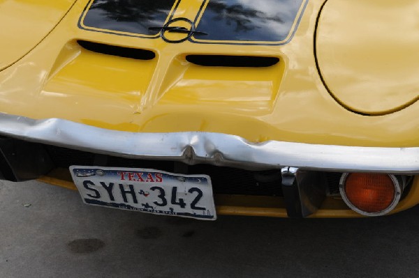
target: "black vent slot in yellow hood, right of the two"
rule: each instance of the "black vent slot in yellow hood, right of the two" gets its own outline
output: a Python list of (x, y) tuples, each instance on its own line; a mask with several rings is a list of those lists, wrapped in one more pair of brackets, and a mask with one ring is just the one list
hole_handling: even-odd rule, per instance
[(229, 56), (229, 55), (188, 55), (186, 61), (207, 67), (266, 68), (279, 62), (277, 57)]

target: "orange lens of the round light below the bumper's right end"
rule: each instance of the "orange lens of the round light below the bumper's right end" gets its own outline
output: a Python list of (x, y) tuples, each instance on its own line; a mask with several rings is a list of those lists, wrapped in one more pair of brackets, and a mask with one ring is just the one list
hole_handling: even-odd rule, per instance
[(348, 173), (343, 184), (346, 199), (365, 213), (379, 213), (394, 203), (395, 181), (385, 173)]

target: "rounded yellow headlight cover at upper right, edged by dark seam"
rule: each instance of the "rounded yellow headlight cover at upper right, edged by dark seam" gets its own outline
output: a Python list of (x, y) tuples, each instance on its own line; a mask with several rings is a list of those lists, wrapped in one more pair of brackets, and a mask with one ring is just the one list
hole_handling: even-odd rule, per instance
[(386, 114), (419, 99), (419, 2), (328, 0), (317, 30), (318, 64), (344, 106)]

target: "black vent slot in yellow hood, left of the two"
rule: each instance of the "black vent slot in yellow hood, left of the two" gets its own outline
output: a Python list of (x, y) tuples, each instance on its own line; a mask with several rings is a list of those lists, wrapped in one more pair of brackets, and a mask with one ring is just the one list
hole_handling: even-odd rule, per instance
[(138, 60), (152, 60), (156, 54), (150, 50), (136, 49), (130, 47), (119, 47), (115, 45), (105, 45), (103, 43), (92, 43), (87, 40), (78, 40), (78, 44), (84, 49), (113, 56)]

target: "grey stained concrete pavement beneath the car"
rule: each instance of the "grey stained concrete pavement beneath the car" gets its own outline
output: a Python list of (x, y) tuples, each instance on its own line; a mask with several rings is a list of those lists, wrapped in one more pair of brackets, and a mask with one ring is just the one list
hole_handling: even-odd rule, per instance
[(418, 277), (419, 207), (388, 217), (215, 222), (84, 205), (0, 182), (0, 277)]

